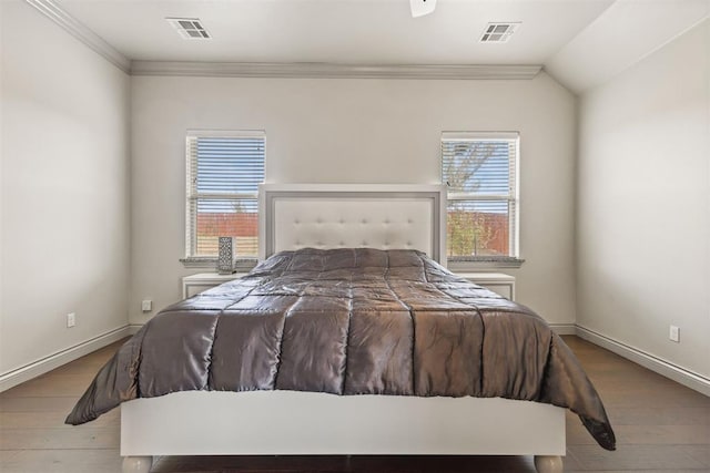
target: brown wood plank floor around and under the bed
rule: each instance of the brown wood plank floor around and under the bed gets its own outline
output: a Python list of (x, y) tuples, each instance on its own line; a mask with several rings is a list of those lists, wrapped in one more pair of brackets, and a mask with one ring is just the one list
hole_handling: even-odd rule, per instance
[[(605, 402), (618, 450), (597, 446), (567, 415), (565, 471), (710, 472), (710, 398), (576, 337), (565, 337)], [(80, 426), (64, 417), (109, 346), (0, 393), (0, 471), (120, 472), (115, 409)], [(153, 472), (534, 472), (531, 457), (499, 456), (190, 456), (161, 457)]]

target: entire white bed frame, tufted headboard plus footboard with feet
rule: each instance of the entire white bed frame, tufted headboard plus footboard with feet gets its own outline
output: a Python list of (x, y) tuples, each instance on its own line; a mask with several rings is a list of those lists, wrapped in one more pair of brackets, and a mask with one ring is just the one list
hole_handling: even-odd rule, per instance
[[(263, 185), (260, 257), (301, 247), (415, 248), (446, 260), (438, 185)], [(535, 455), (561, 472), (565, 410), (506, 399), (178, 392), (121, 407), (123, 472), (154, 455)]]

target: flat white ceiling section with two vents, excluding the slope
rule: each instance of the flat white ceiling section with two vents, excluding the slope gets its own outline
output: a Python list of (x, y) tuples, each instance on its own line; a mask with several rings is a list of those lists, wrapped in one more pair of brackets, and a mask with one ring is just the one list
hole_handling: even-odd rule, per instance
[[(413, 19), (408, 0), (61, 0), (131, 59), (357, 64), (541, 64), (612, 0), (439, 0)], [(165, 17), (200, 18), (210, 41), (185, 41)], [(505, 44), (479, 43), (488, 21), (521, 21)]]

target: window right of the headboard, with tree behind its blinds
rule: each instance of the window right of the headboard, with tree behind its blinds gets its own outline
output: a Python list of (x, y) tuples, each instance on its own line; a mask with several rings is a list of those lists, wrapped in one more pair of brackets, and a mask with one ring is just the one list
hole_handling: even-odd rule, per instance
[(518, 256), (517, 133), (443, 133), (449, 261)]

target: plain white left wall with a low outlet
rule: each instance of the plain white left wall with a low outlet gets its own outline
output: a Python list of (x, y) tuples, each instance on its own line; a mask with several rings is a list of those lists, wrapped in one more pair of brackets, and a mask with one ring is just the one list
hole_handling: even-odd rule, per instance
[(0, 9), (1, 376), (128, 322), (130, 78), (28, 3)]

